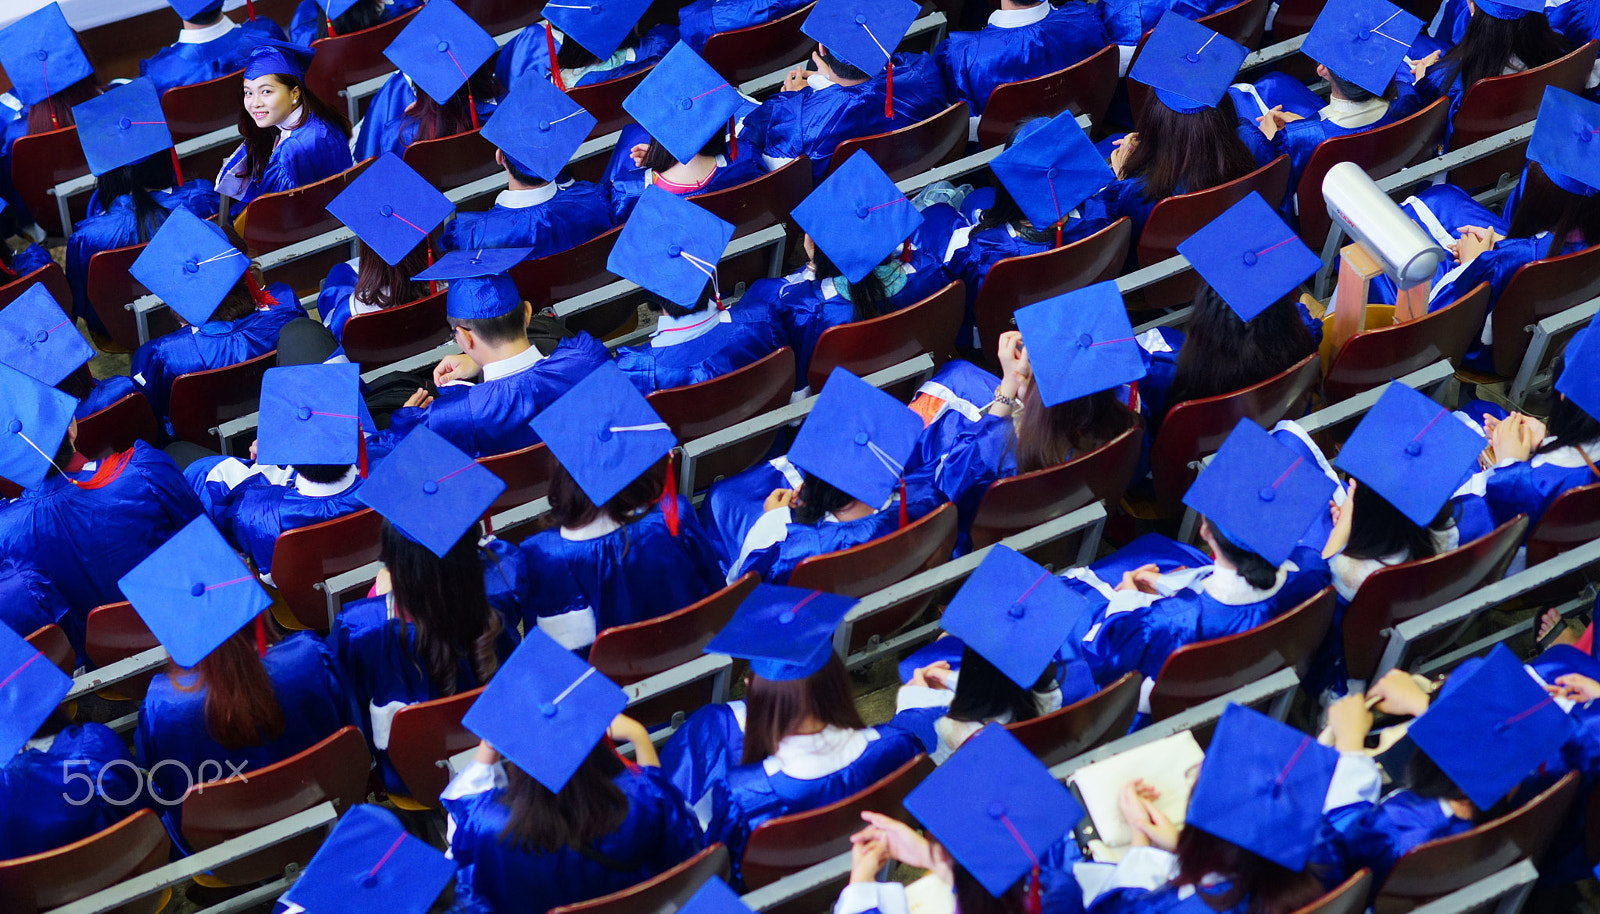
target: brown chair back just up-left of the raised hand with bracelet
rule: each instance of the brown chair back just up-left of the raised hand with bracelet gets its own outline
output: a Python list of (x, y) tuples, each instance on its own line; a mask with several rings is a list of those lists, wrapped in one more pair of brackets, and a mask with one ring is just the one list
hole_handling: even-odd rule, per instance
[(834, 368), (867, 376), (923, 352), (931, 354), (936, 363), (947, 360), (962, 327), (965, 303), (966, 287), (957, 280), (885, 315), (829, 327), (811, 351), (806, 384), (821, 391)]

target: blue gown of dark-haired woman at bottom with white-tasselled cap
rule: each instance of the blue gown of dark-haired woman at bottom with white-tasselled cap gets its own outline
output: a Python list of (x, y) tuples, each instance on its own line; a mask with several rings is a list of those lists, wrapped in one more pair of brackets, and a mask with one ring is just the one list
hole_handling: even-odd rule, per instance
[(614, 868), (573, 848), (546, 853), (506, 844), (501, 831), (510, 808), (501, 788), (443, 800), (456, 823), (450, 842), (458, 866), (454, 911), (544, 914), (637, 885), (699, 853), (699, 823), (659, 768), (629, 768), (611, 783), (627, 797), (627, 818), (590, 848)]

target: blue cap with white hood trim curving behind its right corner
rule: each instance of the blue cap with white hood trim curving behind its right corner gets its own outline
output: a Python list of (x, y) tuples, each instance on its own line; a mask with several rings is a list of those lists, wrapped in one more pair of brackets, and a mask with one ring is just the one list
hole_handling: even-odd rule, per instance
[(1320, 466), (1246, 418), (1200, 471), (1184, 493), (1184, 504), (1229, 541), (1282, 565), (1312, 522), (1328, 511), (1333, 490)]

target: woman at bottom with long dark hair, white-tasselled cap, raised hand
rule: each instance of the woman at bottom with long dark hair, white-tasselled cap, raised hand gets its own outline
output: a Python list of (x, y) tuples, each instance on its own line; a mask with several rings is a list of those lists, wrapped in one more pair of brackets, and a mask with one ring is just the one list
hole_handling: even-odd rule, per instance
[[(542, 632), (467, 711), (483, 738), (440, 800), (456, 908), (542, 914), (621, 892), (698, 853), (704, 834), (627, 696)], [(634, 746), (618, 756), (613, 740)]]

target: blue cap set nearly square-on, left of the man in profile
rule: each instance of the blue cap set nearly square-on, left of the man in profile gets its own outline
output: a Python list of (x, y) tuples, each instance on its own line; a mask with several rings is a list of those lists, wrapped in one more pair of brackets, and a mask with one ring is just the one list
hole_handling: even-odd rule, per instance
[(256, 463), (349, 466), (362, 451), (362, 367), (291, 365), (261, 379)]

